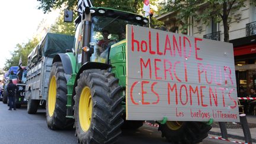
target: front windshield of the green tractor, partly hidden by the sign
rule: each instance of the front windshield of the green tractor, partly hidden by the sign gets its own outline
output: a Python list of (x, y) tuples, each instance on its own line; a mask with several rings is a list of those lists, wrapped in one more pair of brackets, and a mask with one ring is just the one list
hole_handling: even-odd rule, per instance
[(91, 42), (95, 43), (92, 62), (107, 62), (111, 45), (126, 39), (126, 24), (141, 25), (136, 21), (123, 20), (117, 17), (97, 15), (92, 17)]

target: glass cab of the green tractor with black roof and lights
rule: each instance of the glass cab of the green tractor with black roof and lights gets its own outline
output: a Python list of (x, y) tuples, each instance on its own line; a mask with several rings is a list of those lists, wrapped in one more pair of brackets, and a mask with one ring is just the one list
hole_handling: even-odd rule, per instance
[[(148, 19), (131, 12), (93, 7), (85, 12), (83, 18), (76, 18), (75, 23), (74, 47), (78, 63), (109, 63), (111, 46), (126, 39), (126, 24), (144, 26)], [(87, 58), (82, 55), (83, 51)]]

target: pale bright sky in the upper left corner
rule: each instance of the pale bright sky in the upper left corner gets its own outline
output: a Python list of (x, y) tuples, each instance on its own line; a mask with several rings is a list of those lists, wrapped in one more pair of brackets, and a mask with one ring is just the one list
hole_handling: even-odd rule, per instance
[(38, 6), (37, 0), (0, 1), (0, 68), (4, 68), (16, 44), (32, 39), (43, 18), (53, 17), (37, 9)]

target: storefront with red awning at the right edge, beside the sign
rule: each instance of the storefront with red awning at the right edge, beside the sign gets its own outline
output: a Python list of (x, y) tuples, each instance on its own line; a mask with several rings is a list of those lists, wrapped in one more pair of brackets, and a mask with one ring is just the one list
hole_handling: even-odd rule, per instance
[(238, 96), (244, 89), (250, 94), (250, 88), (256, 88), (256, 36), (230, 40), (234, 47), (236, 84)]

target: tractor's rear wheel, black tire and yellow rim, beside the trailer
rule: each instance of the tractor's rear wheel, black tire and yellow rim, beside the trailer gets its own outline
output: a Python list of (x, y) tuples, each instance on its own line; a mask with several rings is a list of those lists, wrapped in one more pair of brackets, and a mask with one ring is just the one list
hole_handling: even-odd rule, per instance
[(52, 65), (46, 98), (46, 120), (50, 129), (72, 129), (73, 119), (66, 118), (67, 86), (61, 62)]

